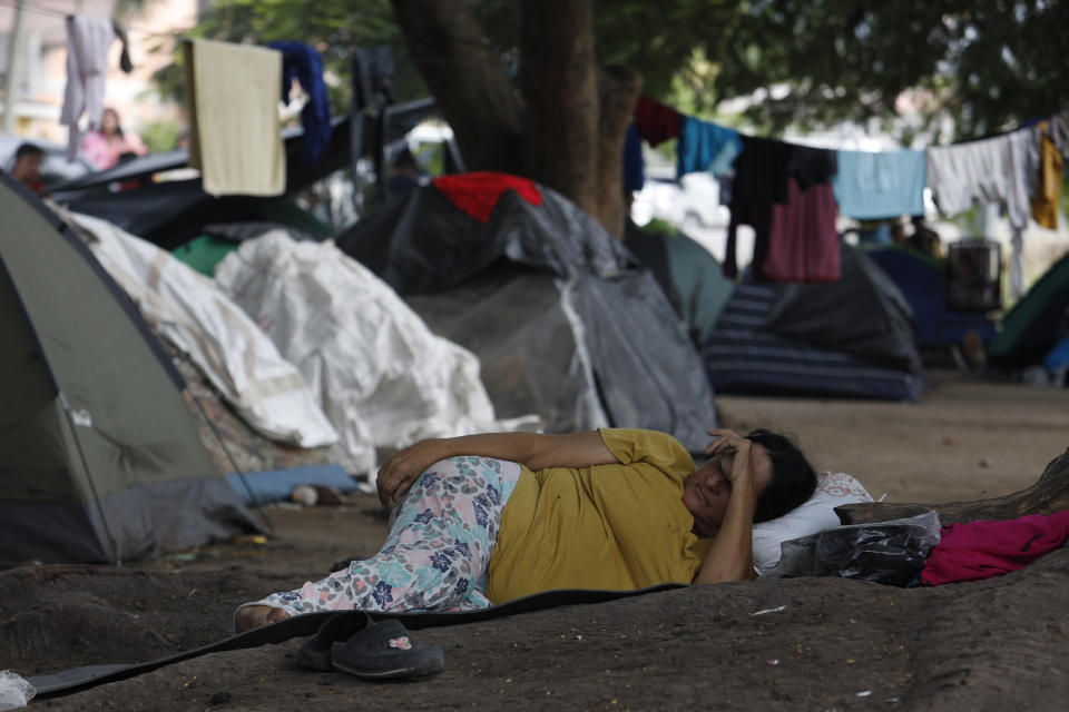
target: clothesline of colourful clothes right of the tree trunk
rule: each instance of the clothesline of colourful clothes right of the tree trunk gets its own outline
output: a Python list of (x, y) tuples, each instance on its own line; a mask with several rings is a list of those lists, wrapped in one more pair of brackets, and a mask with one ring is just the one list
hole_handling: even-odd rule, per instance
[[(679, 177), (709, 171), (732, 178), (725, 261), (729, 276), (735, 228), (747, 224), (757, 230), (755, 263), (766, 278), (836, 279), (836, 211), (855, 219), (923, 216), (924, 188), (931, 187), (945, 215), (974, 204), (1006, 208), (1013, 231), (1010, 281), (1017, 296), (1023, 291), (1023, 231), (1029, 218), (1057, 229), (1062, 158), (1069, 157), (1069, 112), (988, 139), (924, 150), (857, 151), (743, 135), (640, 97), (632, 130), (654, 146), (676, 138)], [(627, 151), (635, 151), (634, 141), (625, 145), (625, 181), (632, 188), (634, 156)]]

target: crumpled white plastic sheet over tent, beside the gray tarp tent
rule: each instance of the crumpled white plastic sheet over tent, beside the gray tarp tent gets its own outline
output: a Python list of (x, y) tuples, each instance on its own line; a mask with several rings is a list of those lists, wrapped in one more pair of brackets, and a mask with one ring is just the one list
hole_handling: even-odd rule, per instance
[(497, 421), (479, 359), (332, 241), (266, 233), (231, 253), (216, 281), (297, 365), (354, 459), (371, 446), (538, 423)]

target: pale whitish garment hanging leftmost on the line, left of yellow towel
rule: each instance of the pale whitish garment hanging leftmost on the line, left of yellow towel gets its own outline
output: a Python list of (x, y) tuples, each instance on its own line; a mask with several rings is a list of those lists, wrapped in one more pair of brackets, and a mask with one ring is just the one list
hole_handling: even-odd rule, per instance
[[(117, 32), (118, 30), (118, 32)], [(133, 70), (127, 51), (126, 32), (111, 20), (68, 16), (67, 18), (67, 87), (59, 122), (70, 127), (67, 160), (73, 160), (81, 147), (78, 122), (85, 113), (90, 128), (99, 128), (104, 117), (104, 89), (108, 78), (108, 50), (116, 38), (122, 40), (122, 70)]]

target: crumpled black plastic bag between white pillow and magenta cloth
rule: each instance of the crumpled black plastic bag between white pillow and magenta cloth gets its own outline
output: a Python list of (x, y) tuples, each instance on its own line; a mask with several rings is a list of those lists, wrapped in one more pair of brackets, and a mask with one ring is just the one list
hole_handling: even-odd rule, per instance
[(852, 524), (783, 542), (779, 563), (766, 576), (841, 576), (904, 586), (939, 544), (939, 516)]

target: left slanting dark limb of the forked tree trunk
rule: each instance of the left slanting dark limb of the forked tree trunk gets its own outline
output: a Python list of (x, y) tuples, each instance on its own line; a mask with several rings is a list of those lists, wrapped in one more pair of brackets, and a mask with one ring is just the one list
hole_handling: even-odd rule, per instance
[(523, 100), (464, 0), (392, 0), (468, 170), (526, 175)]

